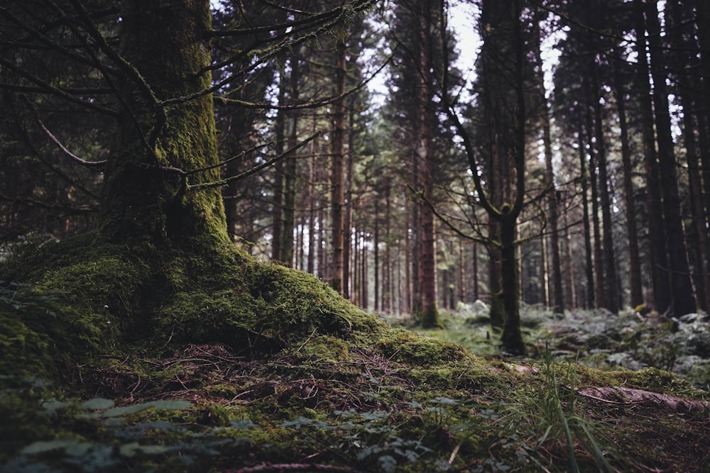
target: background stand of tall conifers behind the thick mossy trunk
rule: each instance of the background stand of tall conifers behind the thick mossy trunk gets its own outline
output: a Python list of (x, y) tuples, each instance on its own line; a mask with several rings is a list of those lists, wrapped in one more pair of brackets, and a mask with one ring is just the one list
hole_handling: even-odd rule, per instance
[[(708, 308), (703, 2), (398, 1), (317, 41), (290, 24), (329, 4), (253, 3), (214, 11), (209, 67), (229, 233), (253, 255), (432, 326), (503, 292)], [(2, 11), (4, 255), (99, 225), (114, 136), (109, 53), (29, 9)], [(92, 9), (115, 41), (119, 9)]]

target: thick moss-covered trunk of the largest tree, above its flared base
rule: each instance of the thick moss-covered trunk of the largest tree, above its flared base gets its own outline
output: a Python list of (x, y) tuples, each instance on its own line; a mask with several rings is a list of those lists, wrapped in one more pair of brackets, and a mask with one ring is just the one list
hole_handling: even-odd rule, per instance
[[(209, 1), (123, 2), (121, 104), (105, 173), (112, 240), (214, 247), (229, 240), (217, 187)], [(200, 170), (212, 167), (207, 170)], [(193, 186), (196, 186), (193, 188)]]

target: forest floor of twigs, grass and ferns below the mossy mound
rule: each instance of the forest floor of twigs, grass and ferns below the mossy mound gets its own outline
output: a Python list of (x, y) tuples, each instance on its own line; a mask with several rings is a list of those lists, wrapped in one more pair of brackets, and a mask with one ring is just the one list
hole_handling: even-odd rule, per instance
[(484, 312), (258, 355), (132, 346), (61, 386), (0, 377), (0, 472), (707, 471), (701, 318), (526, 307), (530, 357), (510, 358)]

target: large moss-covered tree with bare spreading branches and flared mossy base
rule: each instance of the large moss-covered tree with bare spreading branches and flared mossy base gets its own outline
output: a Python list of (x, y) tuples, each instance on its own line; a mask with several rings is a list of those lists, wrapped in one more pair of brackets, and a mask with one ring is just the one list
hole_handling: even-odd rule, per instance
[[(212, 29), (207, 0), (125, 1), (120, 9), (98, 3), (84, 7), (79, 0), (38, 0), (34, 6), (40, 14), (15, 2), (0, 8), (0, 31), (8, 46), (0, 56), (4, 94), (23, 94), (26, 108), (38, 116), (48, 106), (111, 119), (87, 123), (105, 126), (98, 135), (111, 138), (106, 162), (82, 160), (104, 166), (99, 230), (27, 255), (30, 265), (18, 260), (1, 269), (4, 280), (62, 291), (57, 330), (77, 330), (69, 356), (123, 340), (155, 341), (158, 333), (172, 333), (167, 342), (211, 340), (253, 352), (256, 345), (283, 343), (290, 336), (288, 324), (309, 332), (324, 326), (338, 331), (332, 315), (317, 315), (334, 313), (327, 308), (337, 300), (332, 291), (302, 294), (308, 306), (283, 311), (299, 299), (294, 296), (302, 286), (296, 282), (303, 276), (258, 265), (237, 251), (222, 204), (226, 184), (273, 165), (309, 140), (283, 155), (258, 145), (220, 162), (214, 103), (269, 108), (236, 98), (234, 90), (245, 75), (314, 35), (346, 24), (369, 4), (309, 14), (291, 28), (234, 30)], [(290, 35), (280, 34), (282, 29)], [(102, 34), (116, 30), (115, 38)], [(212, 40), (234, 35), (253, 40), (212, 62)], [(43, 77), (41, 71), (23, 68), (38, 59), (38, 52), (82, 67)], [(226, 65), (236, 67), (213, 83), (212, 69)], [(220, 177), (226, 161), (251, 153), (261, 158), (257, 167)], [(306, 292), (322, 291), (315, 279), (308, 280)], [(291, 305), (274, 309), (265, 303), (279, 297), (288, 297)]]

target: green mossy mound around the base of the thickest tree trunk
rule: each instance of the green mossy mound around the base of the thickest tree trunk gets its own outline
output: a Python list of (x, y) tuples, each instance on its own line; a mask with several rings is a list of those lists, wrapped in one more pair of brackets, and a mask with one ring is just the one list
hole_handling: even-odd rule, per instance
[(45, 245), (0, 269), (0, 369), (50, 375), (126, 344), (224, 343), (274, 352), (313, 335), (366, 339), (376, 317), (305, 272), (232, 247), (195, 255), (126, 247), (98, 233)]

